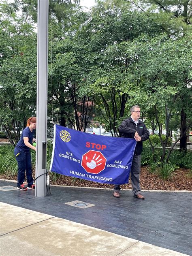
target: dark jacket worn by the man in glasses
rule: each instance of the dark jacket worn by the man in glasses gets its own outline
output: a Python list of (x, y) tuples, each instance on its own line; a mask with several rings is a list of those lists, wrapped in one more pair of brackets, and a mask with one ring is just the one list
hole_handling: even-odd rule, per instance
[(135, 132), (138, 132), (139, 136), (141, 137), (141, 141), (137, 142), (134, 155), (141, 155), (143, 149), (143, 141), (149, 139), (149, 131), (147, 130), (145, 124), (139, 120), (139, 123), (136, 126), (132, 118), (129, 117), (122, 122), (118, 130), (120, 137), (124, 138), (134, 138)]

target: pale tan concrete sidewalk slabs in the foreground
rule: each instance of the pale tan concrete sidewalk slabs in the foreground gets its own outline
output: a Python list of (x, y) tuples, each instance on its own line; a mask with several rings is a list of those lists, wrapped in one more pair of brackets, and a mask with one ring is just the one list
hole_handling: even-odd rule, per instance
[(0, 203), (2, 256), (186, 255), (98, 228)]

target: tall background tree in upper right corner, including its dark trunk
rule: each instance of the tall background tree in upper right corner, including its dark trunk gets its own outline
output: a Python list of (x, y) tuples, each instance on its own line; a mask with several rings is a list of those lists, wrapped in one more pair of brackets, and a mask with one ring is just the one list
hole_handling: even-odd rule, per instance
[[(100, 2), (100, 1), (98, 1)], [(128, 9), (133, 7), (145, 13), (147, 17), (153, 17), (153, 22), (159, 24), (169, 37), (178, 38), (184, 36), (190, 30), (192, 16), (192, 2), (189, 0), (104, 0), (105, 6), (123, 5)], [(188, 79), (186, 83), (188, 83)], [(188, 95), (183, 96), (186, 98)], [(180, 126), (180, 151), (186, 151), (187, 135), (186, 130), (187, 115), (184, 109), (181, 109)]]

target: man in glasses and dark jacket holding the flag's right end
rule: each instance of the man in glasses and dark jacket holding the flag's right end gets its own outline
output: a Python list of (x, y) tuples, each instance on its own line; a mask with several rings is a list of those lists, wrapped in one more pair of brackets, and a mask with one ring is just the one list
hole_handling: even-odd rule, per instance
[[(137, 141), (130, 171), (132, 192), (135, 198), (145, 199), (145, 197), (140, 193), (141, 187), (139, 183), (139, 175), (141, 171), (141, 152), (143, 149), (143, 141), (149, 139), (149, 131), (145, 124), (139, 120), (141, 110), (138, 105), (133, 106), (130, 109), (130, 113), (131, 116), (128, 119), (125, 119), (119, 126), (119, 134), (120, 137), (134, 138)], [(113, 196), (120, 197), (120, 189), (120, 185), (115, 185)]]

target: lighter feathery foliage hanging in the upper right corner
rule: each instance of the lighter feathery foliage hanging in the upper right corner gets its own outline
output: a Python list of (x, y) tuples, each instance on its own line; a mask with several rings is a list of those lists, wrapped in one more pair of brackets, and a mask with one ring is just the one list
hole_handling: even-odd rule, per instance
[[(191, 24), (190, 1), (178, 0), (105, 0), (106, 8), (109, 6), (124, 6), (127, 9), (137, 9), (145, 15), (154, 18), (154, 23), (161, 25), (169, 35), (182, 34)], [(115, 8), (115, 7), (114, 7)]]

